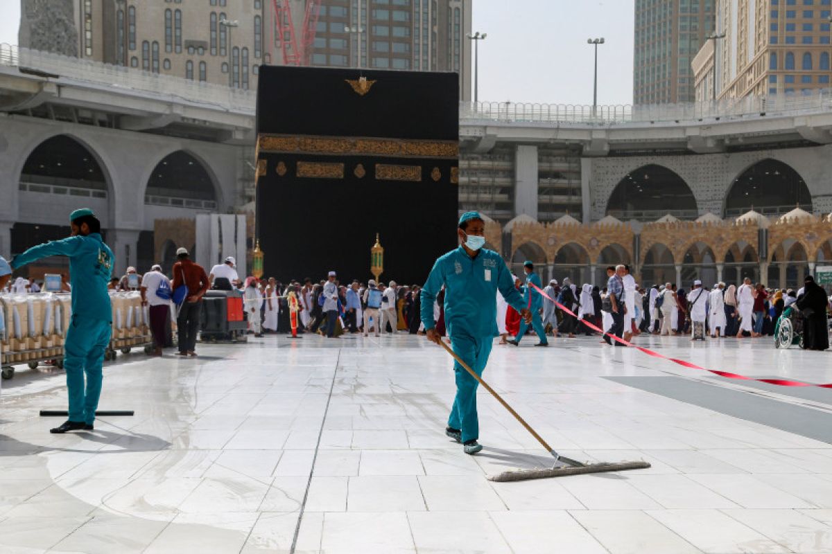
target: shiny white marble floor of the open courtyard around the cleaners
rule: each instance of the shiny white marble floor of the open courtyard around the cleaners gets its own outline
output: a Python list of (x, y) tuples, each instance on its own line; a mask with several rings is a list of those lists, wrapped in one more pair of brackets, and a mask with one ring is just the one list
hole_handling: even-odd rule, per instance
[[(832, 382), (832, 354), (769, 340), (638, 341)], [(495, 346), (490, 384), (570, 458), (651, 468), (488, 481), (551, 458), (484, 390), (485, 449), (450, 442), (450, 359), (423, 337), (135, 353), (106, 365), (100, 409), (136, 415), (92, 432), (38, 417), (66, 409), (61, 371), (3, 383), (0, 552), (832, 552), (832, 444), (817, 439), (832, 390), (727, 381), (597, 337), (534, 342)], [(790, 410), (815, 429), (785, 425)]]

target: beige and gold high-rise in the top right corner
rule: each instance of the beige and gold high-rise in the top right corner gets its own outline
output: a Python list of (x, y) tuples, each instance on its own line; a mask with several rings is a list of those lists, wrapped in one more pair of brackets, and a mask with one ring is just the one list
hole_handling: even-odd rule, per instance
[[(716, 96), (790, 94), (830, 86), (832, 0), (717, 2), (717, 31), (725, 34), (697, 56), (701, 88), (713, 86), (706, 67), (716, 64)], [(716, 55), (716, 56), (715, 56)], [(698, 82), (698, 81), (697, 81)], [(697, 91), (697, 96), (713, 96)]]

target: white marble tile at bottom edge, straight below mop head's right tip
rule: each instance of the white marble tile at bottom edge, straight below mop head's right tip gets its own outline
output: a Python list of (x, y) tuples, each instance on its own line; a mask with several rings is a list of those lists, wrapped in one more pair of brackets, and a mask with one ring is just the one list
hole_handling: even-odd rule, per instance
[(572, 511), (611, 554), (693, 554), (701, 552), (684, 538), (636, 510)]

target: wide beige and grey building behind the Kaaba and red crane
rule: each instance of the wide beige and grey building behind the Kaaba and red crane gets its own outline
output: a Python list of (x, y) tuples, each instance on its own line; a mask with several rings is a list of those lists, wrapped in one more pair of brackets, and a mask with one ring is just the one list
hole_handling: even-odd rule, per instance
[(308, 33), (312, 66), (457, 71), (468, 100), (472, 2), (324, 0), (312, 24), (306, 0), (281, 0), (283, 23), (272, 0), (22, 0), (18, 43), (254, 89), (260, 64), (285, 63), (281, 40)]

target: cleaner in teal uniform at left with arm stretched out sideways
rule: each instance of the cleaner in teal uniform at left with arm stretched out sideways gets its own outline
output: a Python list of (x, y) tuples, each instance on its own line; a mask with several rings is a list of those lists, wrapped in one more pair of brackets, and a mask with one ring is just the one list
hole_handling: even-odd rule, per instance
[(106, 286), (112, 275), (113, 255), (102, 239), (101, 222), (89, 208), (75, 210), (69, 221), (71, 237), (29, 248), (12, 259), (12, 267), (17, 269), (42, 257), (69, 257), (72, 322), (64, 341), (63, 360), (67, 371), (69, 419), (51, 433), (92, 429), (102, 391), (104, 351), (110, 344), (112, 330), (112, 308)]

